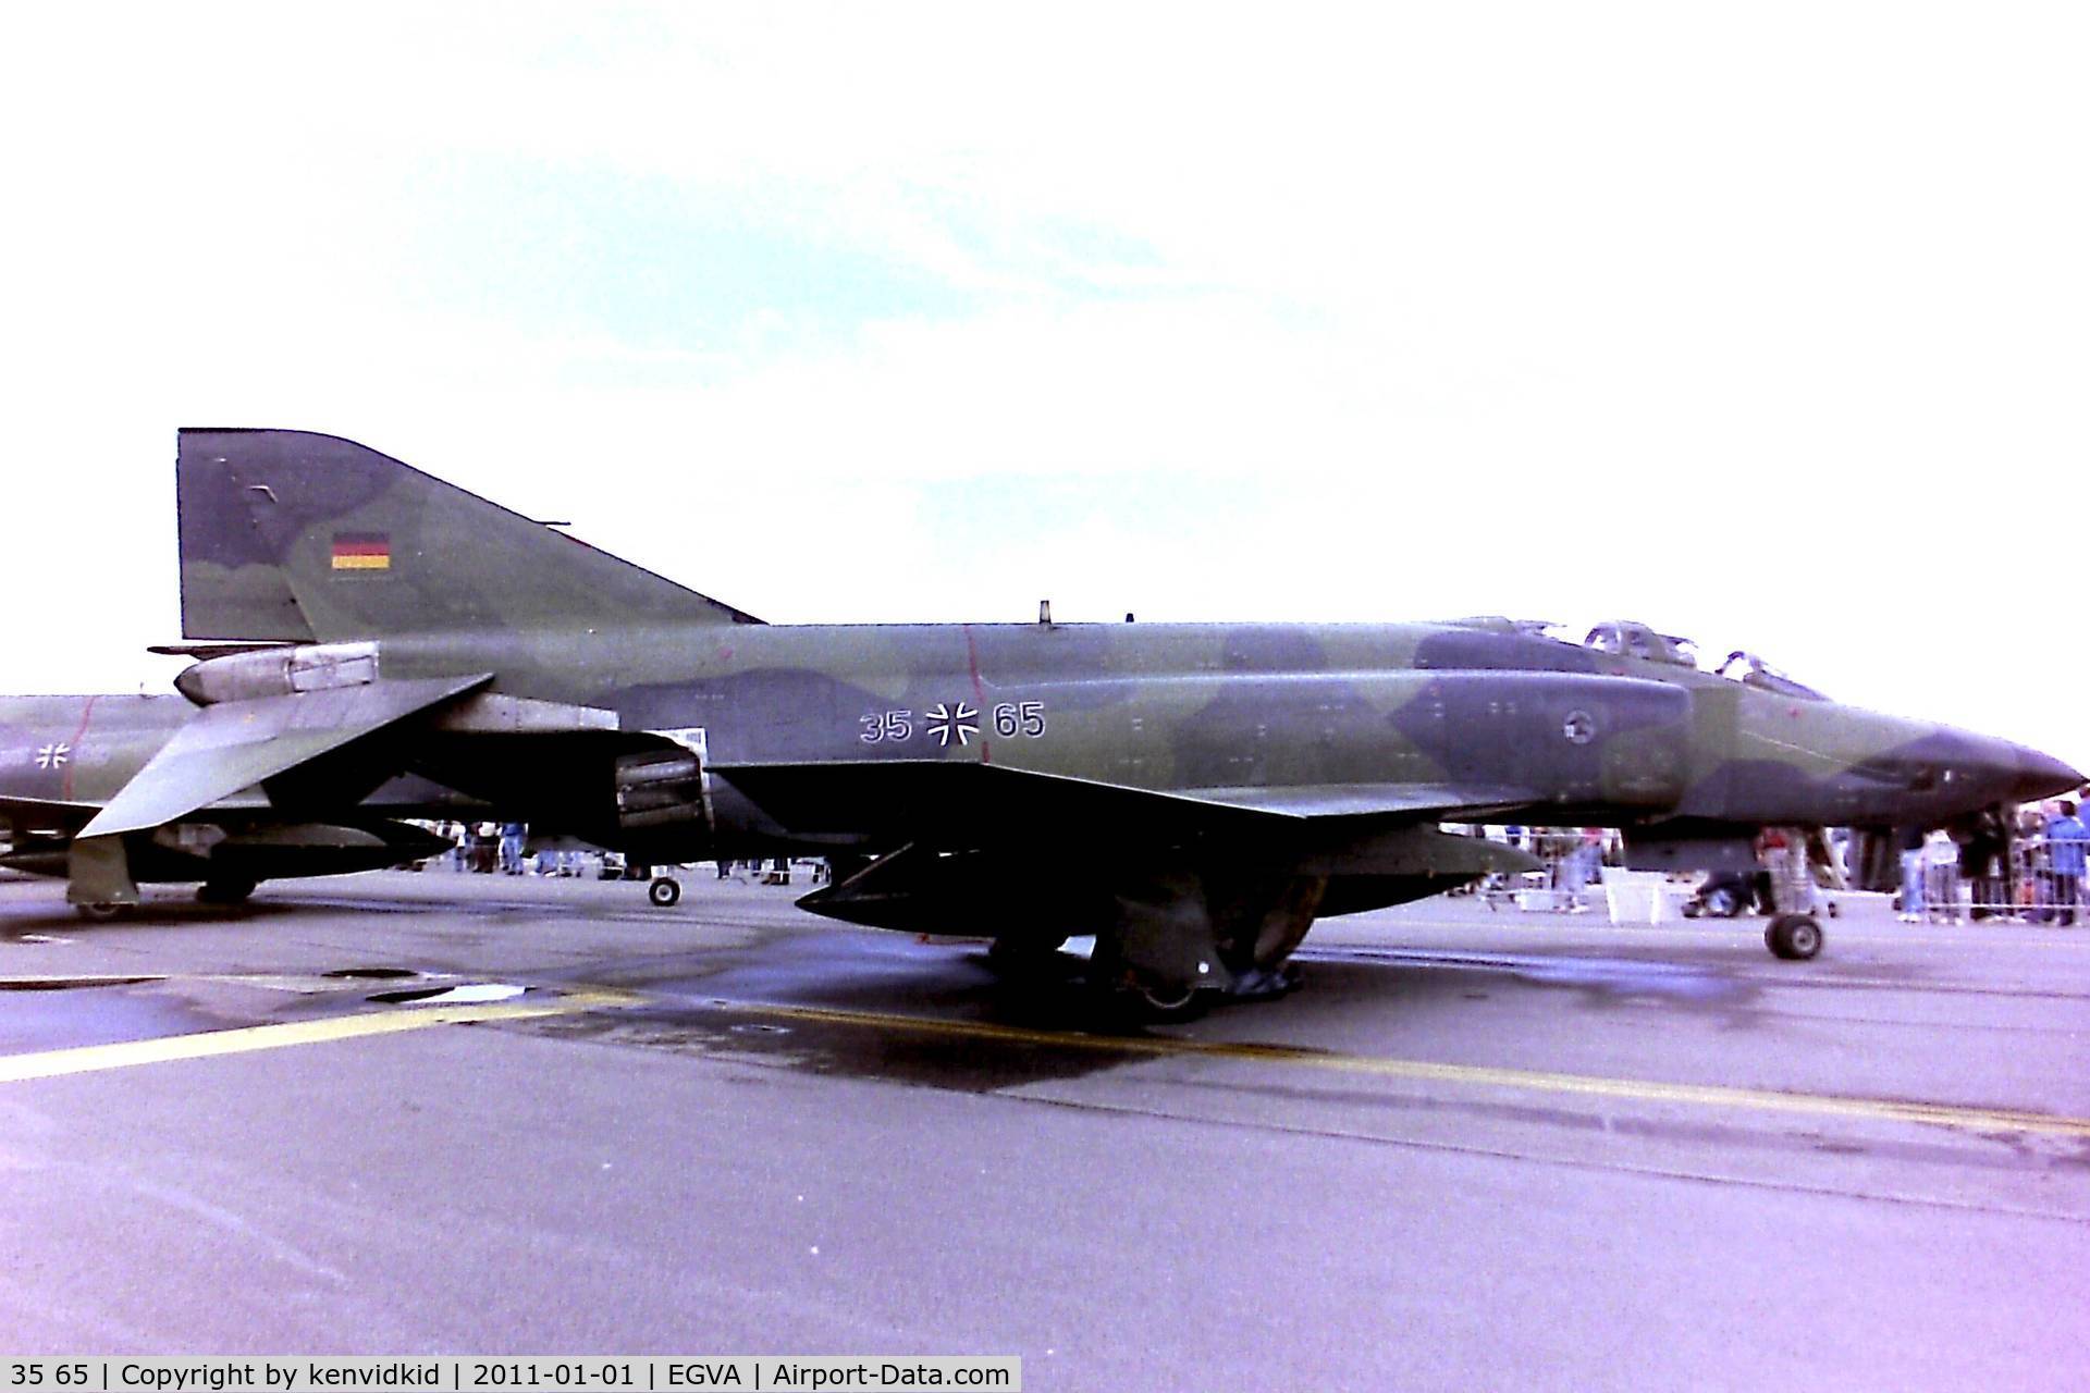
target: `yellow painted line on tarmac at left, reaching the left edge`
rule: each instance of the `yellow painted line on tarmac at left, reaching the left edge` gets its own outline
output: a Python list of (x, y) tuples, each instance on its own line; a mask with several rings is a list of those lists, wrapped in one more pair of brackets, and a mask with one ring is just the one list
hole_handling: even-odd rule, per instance
[(0, 1084), (21, 1084), (33, 1078), (69, 1073), (100, 1073), (134, 1065), (171, 1063), (178, 1059), (213, 1059), (217, 1055), (249, 1055), (293, 1044), (324, 1044), (328, 1040), (359, 1040), (391, 1036), (433, 1025), (472, 1025), (479, 1021), (529, 1021), (545, 1015), (577, 1015), (602, 1007), (629, 1007), (640, 998), (629, 992), (587, 990), (543, 1002), (512, 1002), (485, 1007), (412, 1007), (336, 1015), (324, 1021), (288, 1021), (282, 1025), (242, 1025), (236, 1030), (205, 1030), (157, 1040), (123, 1040), (119, 1044), (82, 1044), (33, 1055), (0, 1055)]

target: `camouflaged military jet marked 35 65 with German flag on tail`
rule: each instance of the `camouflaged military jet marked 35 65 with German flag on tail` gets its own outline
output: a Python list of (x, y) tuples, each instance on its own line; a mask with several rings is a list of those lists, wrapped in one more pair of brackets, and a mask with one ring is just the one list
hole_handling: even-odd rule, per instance
[[(372, 449), (182, 430), (194, 714), (71, 844), (261, 783), (341, 806), (414, 773), (650, 863), (819, 854), (800, 904), (1097, 936), (1154, 1011), (1281, 984), (1317, 917), (1528, 865), (1440, 823), (1624, 827), (1722, 865), (1764, 825), (1937, 825), (2075, 787), (2036, 750), (1697, 670), (1641, 624), (763, 624)], [(1812, 957), (1820, 925), (1772, 925)]]

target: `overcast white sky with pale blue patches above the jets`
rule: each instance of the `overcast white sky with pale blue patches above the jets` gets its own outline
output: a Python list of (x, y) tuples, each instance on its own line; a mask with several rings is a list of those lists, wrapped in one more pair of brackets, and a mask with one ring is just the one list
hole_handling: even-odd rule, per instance
[(2090, 764), (2082, 4), (23, 6), (0, 689), (173, 432), (777, 622), (1632, 616)]

